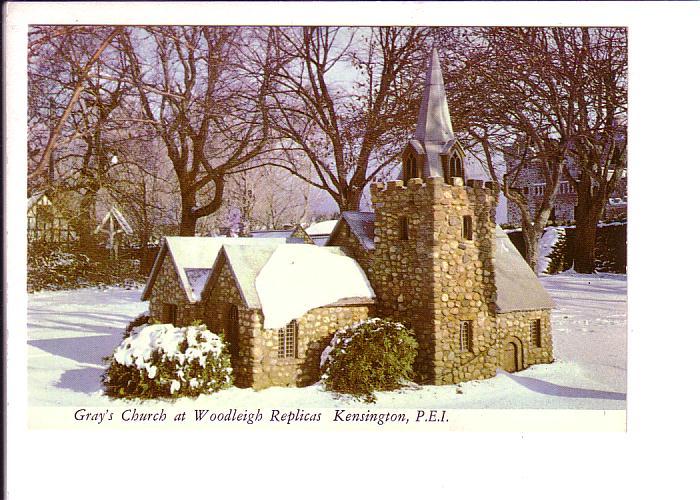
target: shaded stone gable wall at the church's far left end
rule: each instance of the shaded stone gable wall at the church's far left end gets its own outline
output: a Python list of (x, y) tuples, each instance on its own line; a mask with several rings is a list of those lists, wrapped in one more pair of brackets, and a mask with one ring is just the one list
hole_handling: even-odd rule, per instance
[(163, 259), (160, 272), (151, 289), (149, 303), (149, 314), (151, 317), (161, 323), (165, 322), (166, 304), (175, 304), (177, 306), (175, 326), (187, 326), (195, 320), (202, 319), (201, 305), (192, 304), (188, 300), (169, 254)]

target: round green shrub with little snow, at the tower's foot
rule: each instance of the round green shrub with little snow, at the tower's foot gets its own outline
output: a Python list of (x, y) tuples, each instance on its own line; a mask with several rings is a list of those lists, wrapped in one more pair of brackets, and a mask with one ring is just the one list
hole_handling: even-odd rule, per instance
[(321, 355), (326, 387), (374, 401), (412, 374), (418, 342), (401, 323), (372, 318), (338, 330)]

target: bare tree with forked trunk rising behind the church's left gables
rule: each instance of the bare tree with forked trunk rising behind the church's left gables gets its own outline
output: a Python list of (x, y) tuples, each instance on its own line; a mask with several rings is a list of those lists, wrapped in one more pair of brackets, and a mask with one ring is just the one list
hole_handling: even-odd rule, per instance
[(183, 236), (221, 207), (226, 176), (252, 168), (268, 139), (272, 63), (265, 40), (254, 43), (249, 30), (168, 26), (120, 38), (142, 120), (177, 176)]

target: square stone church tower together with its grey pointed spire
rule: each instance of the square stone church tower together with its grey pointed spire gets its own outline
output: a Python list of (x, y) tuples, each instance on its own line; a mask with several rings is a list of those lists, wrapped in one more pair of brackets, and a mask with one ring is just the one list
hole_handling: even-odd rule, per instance
[(371, 186), (378, 313), (410, 325), (423, 383), (495, 375), (498, 357), (493, 208), (484, 178), (470, 178), (452, 131), (433, 50), (403, 179)]

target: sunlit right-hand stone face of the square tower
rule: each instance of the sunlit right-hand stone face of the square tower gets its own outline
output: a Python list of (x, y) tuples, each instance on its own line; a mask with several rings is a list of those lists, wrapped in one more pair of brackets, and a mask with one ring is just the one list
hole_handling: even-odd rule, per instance
[[(450, 384), (494, 376), (497, 355), (493, 304), (495, 222), (493, 192), (438, 184), (435, 190), (433, 252), (435, 280), (435, 382)], [(462, 216), (471, 215), (472, 240), (462, 237)], [(460, 350), (460, 323), (471, 320), (471, 350)]]

